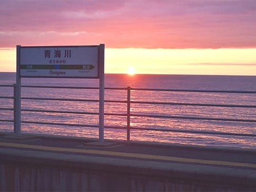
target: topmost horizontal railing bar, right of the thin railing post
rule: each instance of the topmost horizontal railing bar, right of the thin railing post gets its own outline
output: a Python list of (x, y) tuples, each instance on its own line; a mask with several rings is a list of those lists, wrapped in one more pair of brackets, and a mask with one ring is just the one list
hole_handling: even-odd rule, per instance
[(256, 93), (252, 90), (197, 90), (197, 89), (156, 89), (156, 88), (132, 88), (131, 90), (151, 90), (164, 92), (205, 92), (205, 93)]

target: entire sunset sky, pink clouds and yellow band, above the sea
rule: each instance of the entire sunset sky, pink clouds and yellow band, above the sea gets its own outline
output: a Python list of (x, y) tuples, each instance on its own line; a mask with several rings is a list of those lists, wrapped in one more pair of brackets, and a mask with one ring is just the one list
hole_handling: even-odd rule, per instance
[(256, 75), (256, 1), (1, 0), (0, 72), (16, 45), (105, 44), (105, 72)]

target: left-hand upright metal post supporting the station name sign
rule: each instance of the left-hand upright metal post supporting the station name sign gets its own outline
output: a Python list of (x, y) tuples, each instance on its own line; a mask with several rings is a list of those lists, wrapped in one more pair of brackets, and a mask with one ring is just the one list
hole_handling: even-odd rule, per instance
[(15, 129), (16, 135), (21, 135), (21, 45), (16, 47), (16, 102), (15, 102)]

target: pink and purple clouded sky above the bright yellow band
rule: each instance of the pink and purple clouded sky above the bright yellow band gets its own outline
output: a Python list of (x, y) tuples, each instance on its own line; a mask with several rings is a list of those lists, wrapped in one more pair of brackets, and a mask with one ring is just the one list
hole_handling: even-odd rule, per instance
[(256, 47), (256, 1), (2, 0), (0, 46)]

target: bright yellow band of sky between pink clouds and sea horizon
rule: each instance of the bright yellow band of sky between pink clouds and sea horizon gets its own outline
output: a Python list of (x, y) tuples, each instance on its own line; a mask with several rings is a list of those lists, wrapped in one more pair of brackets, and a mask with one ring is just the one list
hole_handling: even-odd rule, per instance
[[(105, 73), (256, 75), (256, 48), (106, 48)], [(0, 49), (1, 71), (16, 71), (16, 49)]]

